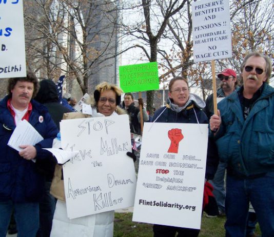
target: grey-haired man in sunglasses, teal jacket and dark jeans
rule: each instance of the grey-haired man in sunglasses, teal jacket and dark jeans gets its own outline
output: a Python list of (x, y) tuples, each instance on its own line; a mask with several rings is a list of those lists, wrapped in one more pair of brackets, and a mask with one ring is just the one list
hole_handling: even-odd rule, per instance
[(270, 59), (249, 53), (240, 67), (243, 86), (218, 104), (210, 130), (227, 164), (226, 237), (245, 236), (251, 202), (262, 236), (274, 233), (274, 89)]

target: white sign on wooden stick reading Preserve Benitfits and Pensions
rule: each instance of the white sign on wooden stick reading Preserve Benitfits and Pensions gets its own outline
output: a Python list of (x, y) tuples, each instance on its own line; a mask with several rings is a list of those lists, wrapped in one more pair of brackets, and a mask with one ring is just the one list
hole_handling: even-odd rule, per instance
[(229, 0), (193, 2), (192, 32), (195, 63), (231, 57)]

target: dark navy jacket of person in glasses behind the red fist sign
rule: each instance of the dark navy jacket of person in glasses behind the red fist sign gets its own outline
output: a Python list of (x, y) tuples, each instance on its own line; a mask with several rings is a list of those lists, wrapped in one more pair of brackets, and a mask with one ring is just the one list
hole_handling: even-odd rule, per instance
[[(163, 112), (164, 109), (165, 111)], [(155, 121), (156, 118), (161, 114), (160, 117), (158, 117), (155, 122), (197, 124), (198, 121), (195, 113), (197, 115), (197, 118), (200, 124), (208, 124), (208, 119), (206, 114), (200, 108), (197, 108), (195, 104), (192, 104), (192, 103), (179, 113), (171, 110), (169, 104), (167, 104), (165, 107), (162, 107), (155, 111), (152, 121)], [(214, 143), (212, 139), (209, 139), (208, 146), (207, 146), (207, 160), (206, 160), (206, 174), (205, 174), (205, 178), (207, 180), (213, 179), (214, 174), (216, 173), (218, 164), (219, 164), (219, 160), (217, 155), (216, 144)]]

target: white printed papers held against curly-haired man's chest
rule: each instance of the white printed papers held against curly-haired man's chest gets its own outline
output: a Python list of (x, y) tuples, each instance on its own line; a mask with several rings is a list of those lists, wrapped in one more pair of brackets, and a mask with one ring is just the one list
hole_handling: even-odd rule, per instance
[(23, 149), (19, 147), (20, 145), (34, 146), (42, 140), (43, 137), (40, 133), (38, 133), (28, 121), (23, 120), (16, 125), (8, 142), (8, 146), (17, 151), (22, 151)]

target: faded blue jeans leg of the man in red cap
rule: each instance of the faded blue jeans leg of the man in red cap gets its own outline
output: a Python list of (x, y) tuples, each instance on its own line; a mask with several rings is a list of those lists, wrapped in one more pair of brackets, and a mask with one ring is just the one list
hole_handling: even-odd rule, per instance
[(213, 186), (213, 194), (217, 201), (219, 210), (225, 212), (225, 169), (226, 163), (220, 162), (214, 175), (214, 179), (209, 183)]

